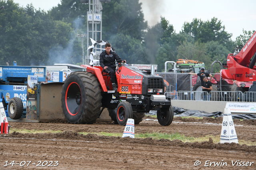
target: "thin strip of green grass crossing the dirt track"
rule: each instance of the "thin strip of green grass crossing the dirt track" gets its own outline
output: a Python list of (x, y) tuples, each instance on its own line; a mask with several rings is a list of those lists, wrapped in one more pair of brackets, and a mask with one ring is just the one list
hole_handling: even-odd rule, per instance
[[(47, 130), (47, 131), (42, 131), (42, 130), (26, 130), (26, 129), (10, 129), (10, 133), (12, 132), (19, 132), (19, 133), (62, 133), (62, 131), (52, 131), (52, 130)], [(87, 135), (88, 133), (86, 132), (80, 132), (80, 134), (83, 135)], [(107, 133), (107, 132), (100, 132), (100, 133), (92, 133), (92, 134), (96, 134), (96, 135), (104, 135), (104, 136), (115, 136), (115, 137), (122, 137), (122, 133)], [(206, 135), (204, 137), (187, 137), (185, 135), (182, 135), (180, 133), (135, 133), (135, 138), (147, 138), (147, 137), (151, 137), (152, 139), (168, 139), (170, 141), (172, 140), (180, 140), (184, 143), (186, 142), (205, 142), (205, 141), (209, 141), (210, 138), (212, 138), (213, 143), (219, 143), (220, 142), (220, 136), (213, 136), (213, 135)], [(239, 140), (238, 142), (240, 145), (248, 145), (248, 146), (252, 146), (252, 145), (256, 145), (256, 142), (251, 142), (251, 141), (244, 141), (244, 140)]]

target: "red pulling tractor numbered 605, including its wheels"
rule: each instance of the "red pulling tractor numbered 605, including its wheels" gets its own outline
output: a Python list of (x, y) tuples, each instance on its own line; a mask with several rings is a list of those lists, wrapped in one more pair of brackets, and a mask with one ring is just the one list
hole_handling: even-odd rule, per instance
[(72, 72), (62, 87), (62, 109), (69, 123), (95, 123), (104, 108), (108, 108), (112, 121), (120, 125), (126, 125), (128, 118), (139, 124), (150, 110), (157, 111), (160, 125), (172, 123), (174, 113), (170, 98), (164, 96), (161, 76), (118, 63), (118, 90), (114, 91), (110, 76), (102, 72), (101, 66), (81, 66), (86, 72)]

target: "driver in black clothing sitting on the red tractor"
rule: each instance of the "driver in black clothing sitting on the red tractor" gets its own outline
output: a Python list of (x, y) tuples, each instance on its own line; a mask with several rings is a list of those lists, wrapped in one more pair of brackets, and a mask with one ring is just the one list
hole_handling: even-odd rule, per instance
[[(111, 51), (111, 44), (106, 43), (105, 51), (103, 51), (100, 54), (100, 66), (104, 69), (104, 72), (110, 74), (110, 80), (112, 83), (113, 90), (117, 90), (118, 88), (118, 85), (116, 84), (116, 78), (115, 78), (116, 66), (114, 62), (116, 60), (121, 60), (121, 58), (116, 53)], [(126, 63), (126, 61), (123, 60), (122, 63)]]

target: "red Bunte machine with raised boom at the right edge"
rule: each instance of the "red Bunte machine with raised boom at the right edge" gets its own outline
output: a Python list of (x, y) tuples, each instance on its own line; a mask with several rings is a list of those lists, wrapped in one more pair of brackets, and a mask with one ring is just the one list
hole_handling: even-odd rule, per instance
[(238, 46), (233, 54), (229, 54), (227, 70), (221, 70), (222, 78), (237, 80), (238, 88), (236, 91), (246, 92), (254, 91), (249, 86), (256, 81), (256, 31), (244, 46)]

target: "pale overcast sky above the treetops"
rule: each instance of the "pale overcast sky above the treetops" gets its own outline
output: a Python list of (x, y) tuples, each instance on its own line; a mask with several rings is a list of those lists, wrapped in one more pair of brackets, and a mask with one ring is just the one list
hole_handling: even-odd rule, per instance
[[(60, 0), (14, 0), (20, 6), (33, 4), (36, 9), (50, 10)], [(222, 21), (226, 31), (232, 33), (232, 40), (246, 31), (256, 30), (256, 0), (139, 0), (145, 20), (150, 26), (165, 17), (174, 26), (176, 33), (183, 23), (192, 22), (193, 18), (203, 21), (213, 17)], [(83, 4), (81, 4), (83, 5)], [(103, 30), (104, 31), (104, 30)]]

